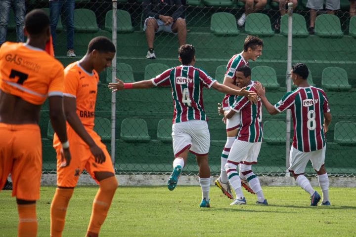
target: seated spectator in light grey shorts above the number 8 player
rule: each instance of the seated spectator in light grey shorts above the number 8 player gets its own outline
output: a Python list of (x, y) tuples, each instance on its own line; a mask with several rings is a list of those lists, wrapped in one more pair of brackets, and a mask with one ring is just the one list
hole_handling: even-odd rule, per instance
[[(318, 10), (323, 9), (324, 0), (308, 0), (307, 7), (310, 8), (309, 34), (314, 35), (314, 25)], [(340, 9), (340, 0), (325, 0), (325, 9), (328, 14), (335, 15), (335, 10)], [(325, 22), (325, 24), (328, 24)]]

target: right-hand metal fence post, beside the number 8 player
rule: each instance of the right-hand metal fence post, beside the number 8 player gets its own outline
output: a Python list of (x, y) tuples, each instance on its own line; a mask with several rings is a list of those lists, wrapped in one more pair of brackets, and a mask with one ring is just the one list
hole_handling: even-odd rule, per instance
[[(293, 26), (293, 2), (288, 2), (288, 46), (287, 46), (287, 74), (286, 74), (286, 85), (287, 92), (292, 89), (292, 80), (290, 76), (290, 71), (292, 69), (292, 26)], [(288, 172), (289, 167), (289, 152), (290, 152), (290, 127), (291, 127), (291, 111), (287, 110), (286, 115), (287, 123), (287, 134), (286, 134), (286, 171), (285, 176), (290, 176)]]

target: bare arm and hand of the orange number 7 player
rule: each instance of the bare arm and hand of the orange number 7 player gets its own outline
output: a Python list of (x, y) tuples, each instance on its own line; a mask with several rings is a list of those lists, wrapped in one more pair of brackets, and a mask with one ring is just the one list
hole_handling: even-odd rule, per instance
[[(53, 130), (57, 134), (59, 140), (63, 143), (68, 141), (66, 119), (63, 112), (63, 97), (62, 96), (49, 96), (49, 118), (53, 127)], [(65, 159), (65, 162), (64, 162)], [(62, 167), (70, 164), (71, 156), (69, 149), (63, 149), (62, 154)]]

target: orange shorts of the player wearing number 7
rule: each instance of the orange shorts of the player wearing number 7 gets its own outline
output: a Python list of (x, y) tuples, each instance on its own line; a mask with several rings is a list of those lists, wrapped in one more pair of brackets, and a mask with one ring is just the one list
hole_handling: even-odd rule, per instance
[(42, 142), (37, 124), (0, 123), (0, 189), (9, 173), (12, 197), (40, 198)]

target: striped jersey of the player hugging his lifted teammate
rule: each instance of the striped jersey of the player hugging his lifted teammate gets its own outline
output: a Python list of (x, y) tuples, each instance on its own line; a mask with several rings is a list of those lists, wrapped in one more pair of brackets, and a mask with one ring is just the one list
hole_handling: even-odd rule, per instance
[[(246, 90), (256, 91), (254, 82), (247, 86)], [(245, 142), (262, 141), (262, 102), (258, 98), (257, 104), (251, 103), (245, 96), (237, 96), (231, 106), (233, 111), (240, 113), (241, 122), (237, 139)]]

